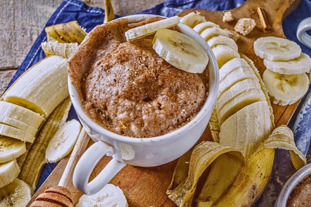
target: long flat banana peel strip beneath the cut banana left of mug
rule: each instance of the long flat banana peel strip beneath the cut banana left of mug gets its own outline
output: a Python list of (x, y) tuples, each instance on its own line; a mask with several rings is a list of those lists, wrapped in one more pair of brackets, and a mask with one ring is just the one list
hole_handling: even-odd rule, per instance
[(23, 164), (21, 164), (21, 172), (18, 178), (25, 181), (34, 190), (46, 163), (45, 150), (55, 132), (65, 124), (71, 105), (68, 97), (54, 110), (42, 128), (39, 137), (28, 150)]

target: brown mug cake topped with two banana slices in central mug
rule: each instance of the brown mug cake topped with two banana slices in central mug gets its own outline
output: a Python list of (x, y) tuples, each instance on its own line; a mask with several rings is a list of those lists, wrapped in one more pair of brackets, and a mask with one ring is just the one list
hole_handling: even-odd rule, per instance
[(117, 19), (86, 36), (67, 70), (96, 123), (129, 137), (156, 137), (199, 112), (208, 95), (208, 56), (178, 23)]

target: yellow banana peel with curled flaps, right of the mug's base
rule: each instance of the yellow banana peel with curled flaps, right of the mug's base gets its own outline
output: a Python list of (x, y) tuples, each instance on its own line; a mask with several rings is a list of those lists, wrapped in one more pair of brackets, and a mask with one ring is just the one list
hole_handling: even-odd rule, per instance
[[(251, 205), (270, 178), (275, 148), (289, 150), (295, 169), (306, 164), (304, 155), (295, 145), (292, 131), (285, 125), (274, 129), (246, 164), (244, 155), (238, 150), (215, 142), (202, 142), (194, 148), (189, 168), (183, 162), (177, 163), (167, 194), (178, 206), (191, 206), (198, 178), (215, 160), (197, 206)], [(187, 160), (189, 153), (180, 159)]]

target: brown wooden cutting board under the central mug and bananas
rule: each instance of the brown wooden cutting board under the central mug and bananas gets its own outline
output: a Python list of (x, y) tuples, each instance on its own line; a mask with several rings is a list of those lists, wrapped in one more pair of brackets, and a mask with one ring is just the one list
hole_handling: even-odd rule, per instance
[[(237, 44), (239, 46), (239, 52), (242, 52), (251, 58), (258, 68), (260, 74), (262, 74), (265, 70), (265, 67), (262, 60), (254, 54), (253, 42), (257, 38), (263, 36), (285, 37), (282, 29), (282, 20), (292, 11), (294, 11), (299, 3), (300, 0), (248, 0), (240, 7), (231, 10), (235, 20), (230, 23), (222, 22), (223, 11), (189, 9), (180, 12), (178, 16), (184, 16), (192, 11), (199, 11), (201, 12), (201, 15), (206, 17), (207, 20), (215, 22), (216, 24), (220, 25), (221, 28), (227, 28), (231, 30), (233, 30), (234, 25), (239, 18), (249, 17), (256, 20), (256, 28), (245, 37), (240, 35), (240, 39), (237, 41)], [(262, 26), (260, 24), (257, 13), (257, 7), (262, 7), (266, 11), (267, 18), (273, 28), (272, 32), (264, 33), (262, 31)], [(272, 104), (276, 126), (287, 124), (297, 106), (298, 103), (290, 106), (277, 106)], [(189, 137), (189, 139), (191, 139), (191, 137)], [(207, 128), (199, 142), (210, 140), (211, 135), (209, 129)], [(89, 146), (92, 143), (93, 142), (90, 141)], [(110, 157), (105, 156), (102, 160), (100, 160), (91, 175), (91, 179), (100, 173), (101, 169), (104, 168), (110, 159)], [(61, 178), (67, 161), (68, 156), (60, 161), (57, 167), (53, 170), (50, 176), (33, 196), (30, 203), (44, 190), (48, 189), (49, 187), (58, 185), (58, 181)], [(127, 165), (110, 181), (110, 183), (119, 186), (123, 190), (128, 200), (129, 206), (175, 206), (175, 204), (168, 199), (168, 196), (166, 195), (166, 189), (171, 181), (176, 162), (177, 160), (174, 160), (168, 164), (152, 168), (141, 168)], [(73, 203), (77, 204), (82, 194), (78, 192), (73, 186), (69, 190), (73, 196)]]

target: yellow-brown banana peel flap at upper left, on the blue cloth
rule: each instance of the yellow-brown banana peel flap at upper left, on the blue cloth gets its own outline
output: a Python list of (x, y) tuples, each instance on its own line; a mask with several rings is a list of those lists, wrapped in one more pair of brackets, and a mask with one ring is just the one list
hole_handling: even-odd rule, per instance
[(56, 40), (59, 43), (80, 44), (87, 35), (77, 21), (48, 26), (45, 28), (45, 32), (48, 42)]

